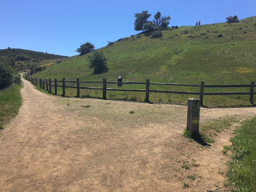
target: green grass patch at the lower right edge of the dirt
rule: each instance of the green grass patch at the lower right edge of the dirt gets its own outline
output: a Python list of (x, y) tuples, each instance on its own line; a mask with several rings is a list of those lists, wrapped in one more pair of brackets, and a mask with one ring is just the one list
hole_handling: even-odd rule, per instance
[[(228, 185), (236, 191), (256, 191), (256, 117), (247, 120), (231, 138), (232, 161), (228, 162)], [(227, 148), (227, 147), (226, 147)]]

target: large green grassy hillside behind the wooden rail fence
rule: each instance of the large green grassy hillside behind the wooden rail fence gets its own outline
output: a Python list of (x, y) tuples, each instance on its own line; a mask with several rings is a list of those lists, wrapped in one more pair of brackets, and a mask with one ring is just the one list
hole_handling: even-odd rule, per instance
[[(114, 45), (101, 48), (109, 58), (107, 73), (95, 75), (87, 68), (84, 56), (74, 56), (53, 64), (43, 72), (41, 78), (66, 78), (67, 80), (117, 81), (200, 84), (250, 84), (256, 80), (256, 16), (240, 20), (239, 23), (216, 23), (201, 26), (182, 26), (163, 31), (163, 37), (151, 39), (141, 33), (123, 38)], [(242, 28), (242, 29), (239, 29)], [(200, 35), (205, 33), (204, 35)], [(222, 37), (218, 37), (222, 34)], [(92, 42), (93, 43), (93, 42)], [(87, 85), (97, 86), (97, 85)], [(108, 85), (116, 87), (117, 85)], [(144, 85), (125, 85), (122, 88), (145, 89)], [(199, 92), (198, 88), (150, 86), (150, 89)], [(248, 88), (211, 89), (206, 92), (249, 92)], [(75, 96), (76, 90), (68, 90)], [(61, 93), (60, 93), (61, 94)], [(84, 96), (102, 97), (102, 92), (82, 91)], [(196, 95), (150, 93), (153, 102), (186, 103)], [(145, 93), (107, 92), (107, 98), (144, 100)], [(205, 96), (204, 103), (210, 106), (250, 105), (249, 96)], [(229, 98), (229, 99), (227, 99)], [(244, 101), (245, 100), (245, 101)]]

